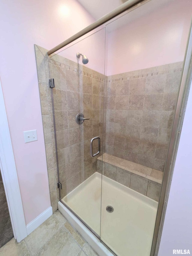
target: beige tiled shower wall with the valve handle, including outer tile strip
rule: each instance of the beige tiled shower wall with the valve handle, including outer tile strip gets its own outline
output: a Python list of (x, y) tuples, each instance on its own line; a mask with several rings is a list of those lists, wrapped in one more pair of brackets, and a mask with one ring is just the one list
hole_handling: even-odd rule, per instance
[[(49, 59), (46, 50), (39, 46), (35, 46), (35, 51), (50, 198), (53, 211), (55, 211), (59, 191), (56, 186), (58, 174), (51, 89), (48, 84), (49, 68), (51, 78), (55, 80), (55, 88), (52, 90), (59, 181), (62, 184), (61, 198), (96, 171), (97, 158), (90, 156), (90, 139), (100, 136), (102, 141), (103, 131), (105, 131), (105, 124), (103, 125), (104, 75), (59, 55)], [(89, 120), (78, 125), (75, 121), (78, 113), (83, 113)], [(97, 152), (96, 143), (97, 141), (93, 145), (94, 152)]]

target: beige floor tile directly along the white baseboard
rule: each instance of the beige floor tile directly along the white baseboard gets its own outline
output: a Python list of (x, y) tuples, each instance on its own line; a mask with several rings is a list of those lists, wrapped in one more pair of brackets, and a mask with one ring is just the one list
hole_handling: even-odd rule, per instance
[(35, 255), (38, 250), (58, 231), (62, 226), (55, 215), (51, 215), (43, 224), (35, 229), (29, 236), (25, 238), (25, 242), (32, 255)]

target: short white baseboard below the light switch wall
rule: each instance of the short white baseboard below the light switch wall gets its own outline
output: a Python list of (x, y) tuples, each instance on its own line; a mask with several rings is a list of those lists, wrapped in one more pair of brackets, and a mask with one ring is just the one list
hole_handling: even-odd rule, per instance
[(27, 224), (27, 235), (32, 233), (37, 227), (39, 227), (44, 221), (46, 221), (53, 214), (52, 207), (50, 206), (44, 212), (42, 212), (37, 218)]

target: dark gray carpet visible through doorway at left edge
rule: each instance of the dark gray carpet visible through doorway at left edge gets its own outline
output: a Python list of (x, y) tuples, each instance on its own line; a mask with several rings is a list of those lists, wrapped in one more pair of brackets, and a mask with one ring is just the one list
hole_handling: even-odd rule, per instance
[(0, 248), (13, 238), (13, 230), (0, 172)]

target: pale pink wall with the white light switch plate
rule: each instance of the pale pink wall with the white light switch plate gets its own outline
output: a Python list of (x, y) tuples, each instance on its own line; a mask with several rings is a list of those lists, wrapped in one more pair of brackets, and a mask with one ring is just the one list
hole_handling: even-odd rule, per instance
[[(34, 44), (51, 49), (94, 19), (75, 0), (2, 0), (0, 5), (1, 82), (28, 224), (50, 206)], [(32, 129), (38, 141), (25, 144), (23, 131)]]

